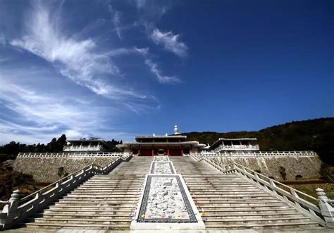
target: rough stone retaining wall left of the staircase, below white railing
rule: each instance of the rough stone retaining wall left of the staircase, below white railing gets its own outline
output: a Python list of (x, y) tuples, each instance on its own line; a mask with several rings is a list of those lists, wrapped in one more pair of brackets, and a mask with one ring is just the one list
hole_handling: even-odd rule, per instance
[(17, 157), (13, 168), (24, 174), (31, 174), (37, 182), (54, 182), (60, 179), (58, 170), (70, 174), (92, 163), (101, 167), (117, 157)]

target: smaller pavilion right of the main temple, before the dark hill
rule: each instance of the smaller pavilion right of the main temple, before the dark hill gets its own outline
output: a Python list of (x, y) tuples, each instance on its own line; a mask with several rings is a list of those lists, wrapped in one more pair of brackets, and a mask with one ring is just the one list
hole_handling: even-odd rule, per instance
[(208, 150), (214, 151), (215, 153), (228, 151), (259, 151), (259, 145), (255, 142), (256, 138), (219, 138), (208, 148)]

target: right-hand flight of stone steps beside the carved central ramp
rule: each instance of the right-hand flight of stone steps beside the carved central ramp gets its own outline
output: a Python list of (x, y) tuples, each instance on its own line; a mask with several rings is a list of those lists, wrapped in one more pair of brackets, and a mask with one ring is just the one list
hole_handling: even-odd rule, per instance
[(206, 162), (171, 157), (183, 175), (207, 229), (323, 229), (295, 208), (237, 174), (221, 174)]

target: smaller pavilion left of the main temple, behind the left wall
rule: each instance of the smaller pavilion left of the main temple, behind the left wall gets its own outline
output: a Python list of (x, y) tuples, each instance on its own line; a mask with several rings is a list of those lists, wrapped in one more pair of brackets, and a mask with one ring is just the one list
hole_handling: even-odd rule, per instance
[(99, 138), (68, 140), (64, 152), (68, 153), (100, 153), (106, 151), (106, 143)]

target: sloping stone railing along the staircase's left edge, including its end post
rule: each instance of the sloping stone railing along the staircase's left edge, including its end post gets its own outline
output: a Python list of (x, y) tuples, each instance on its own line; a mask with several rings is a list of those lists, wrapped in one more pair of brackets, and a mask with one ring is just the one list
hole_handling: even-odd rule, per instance
[(94, 176), (94, 174), (107, 174), (120, 162), (128, 161), (131, 157), (132, 155), (120, 156), (105, 167), (99, 167), (94, 164), (88, 165), (24, 198), (20, 198), (21, 192), (19, 190), (13, 191), (8, 201), (1, 201), (1, 203), (6, 205), (0, 213), (0, 229), (9, 229), (13, 225), (23, 222), (27, 217), (54, 203), (58, 198), (75, 189), (83, 181)]

